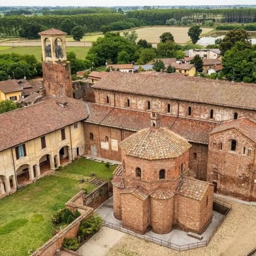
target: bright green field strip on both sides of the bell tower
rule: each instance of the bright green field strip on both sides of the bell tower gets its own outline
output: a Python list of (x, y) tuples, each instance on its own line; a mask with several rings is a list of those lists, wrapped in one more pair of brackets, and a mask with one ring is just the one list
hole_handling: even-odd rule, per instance
[[(84, 59), (89, 51), (90, 47), (67, 47), (67, 52), (75, 52), (78, 59)], [(0, 54), (3, 53), (19, 53), (19, 54), (34, 54), (38, 61), (41, 61), (42, 58), (42, 48), (41, 46), (18, 46), (18, 47), (9, 47), (9, 46), (0, 46)]]

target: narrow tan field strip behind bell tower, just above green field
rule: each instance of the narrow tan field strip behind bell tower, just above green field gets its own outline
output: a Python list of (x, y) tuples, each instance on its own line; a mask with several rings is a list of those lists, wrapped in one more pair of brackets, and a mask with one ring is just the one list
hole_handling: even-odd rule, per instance
[[(0, 46), (41, 46), (41, 41), (0, 42)], [(66, 42), (66, 46), (92, 46), (91, 42)]]

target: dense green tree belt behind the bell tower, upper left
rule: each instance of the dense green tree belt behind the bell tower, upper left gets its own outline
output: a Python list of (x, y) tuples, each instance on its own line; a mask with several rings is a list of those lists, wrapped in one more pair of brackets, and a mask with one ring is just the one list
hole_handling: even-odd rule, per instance
[(61, 29), (61, 22), (69, 19), (77, 26), (86, 26), (86, 32), (100, 31), (101, 26), (124, 21), (125, 15), (119, 13), (93, 13), (80, 15), (46, 15), (46, 16), (8, 16), (0, 18), (0, 34), (18, 36), (23, 23), (34, 22), (43, 29)]

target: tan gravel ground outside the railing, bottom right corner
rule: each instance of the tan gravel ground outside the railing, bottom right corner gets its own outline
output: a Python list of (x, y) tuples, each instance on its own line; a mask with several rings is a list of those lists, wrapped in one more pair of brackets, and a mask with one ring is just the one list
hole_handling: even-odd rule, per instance
[(233, 210), (223, 222), (207, 247), (175, 252), (166, 247), (125, 235), (107, 256), (244, 256), (256, 247), (256, 206), (234, 203)]

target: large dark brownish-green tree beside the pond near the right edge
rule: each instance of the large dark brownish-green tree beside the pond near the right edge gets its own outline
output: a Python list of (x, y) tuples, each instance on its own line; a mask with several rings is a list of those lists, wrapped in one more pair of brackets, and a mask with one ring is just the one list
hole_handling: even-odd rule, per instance
[(219, 45), (221, 55), (223, 56), (226, 51), (230, 50), (236, 42), (241, 42), (249, 47), (252, 45), (250, 35), (244, 29), (232, 29)]

